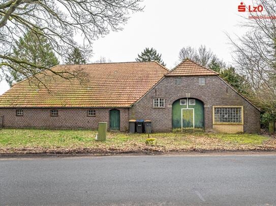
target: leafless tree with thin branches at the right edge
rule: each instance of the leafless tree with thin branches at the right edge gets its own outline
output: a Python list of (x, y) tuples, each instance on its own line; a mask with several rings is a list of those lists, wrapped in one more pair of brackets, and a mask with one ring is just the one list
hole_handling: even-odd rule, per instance
[(233, 45), (236, 68), (245, 74), (255, 94), (252, 100), (264, 110), (276, 114), (276, 1), (253, 1), (262, 5), (262, 12), (251, 12), (242, 26), (248, 32), (236, 38), (228, 37)]

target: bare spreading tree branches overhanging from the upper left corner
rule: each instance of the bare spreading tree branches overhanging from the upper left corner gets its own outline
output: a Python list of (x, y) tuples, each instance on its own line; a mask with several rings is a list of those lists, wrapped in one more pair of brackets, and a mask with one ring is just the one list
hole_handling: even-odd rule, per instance
[[(122, 29), (130, 13), (141, 11), (142, 0), (0, 0), (0, 71), (6, 75), (14, 64), (25, 68), (23, 75), (34, 76), (33, 68), (46, 73), (75, 77), (75, 72), (55, 71), (33, 62), (17, 59), (13, 44), (27, 31), (47, 38), (60, 59), (77, 45), (74, 38), (82, 38), (82, 52), (91, 52), (93, 40)], [(36, 69), (36, 70), (37, 70)], [(49, 72), (50, 71), (50, 72)], [(34, 76), (36, 78), (36, 76)], [(39, 80), (39, 79), (38, 79)]]

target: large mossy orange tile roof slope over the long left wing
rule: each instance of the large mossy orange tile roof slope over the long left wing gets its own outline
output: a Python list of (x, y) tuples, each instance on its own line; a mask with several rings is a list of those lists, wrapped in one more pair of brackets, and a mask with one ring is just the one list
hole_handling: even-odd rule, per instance
[(157, 62), (57, 65), (52, 69), (81, 71), (86, 78), (80, 83), (76, 78), (37, 74), (47, 79), (49, 91), (45, 87), (37, 90), (23, 80), (0, 96), (0, 107), (129, 107), (168, 72)]

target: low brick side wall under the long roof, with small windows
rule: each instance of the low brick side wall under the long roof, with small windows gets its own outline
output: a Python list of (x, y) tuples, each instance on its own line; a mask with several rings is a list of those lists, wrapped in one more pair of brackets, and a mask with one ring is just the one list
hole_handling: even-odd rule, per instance
[[(0, 108), (5, 128), (98, 129), (98, 122), (107, 122), (110, 108), (95, 108), (96, 116), (87, 116), (88, 108), (57, 108), (58, 116), (50, 116), (49, 108), (22, 108), (23, 116), (16, 116), (16, 108)], [(129, 109), (120, 110), (120, 130), (128, 130)]]

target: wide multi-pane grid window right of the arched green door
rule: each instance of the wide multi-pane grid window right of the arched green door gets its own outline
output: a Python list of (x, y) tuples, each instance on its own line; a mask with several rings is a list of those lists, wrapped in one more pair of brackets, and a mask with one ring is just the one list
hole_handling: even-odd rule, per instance
[(214, 107), (215, 123), (242, 123), (242, 107)]

